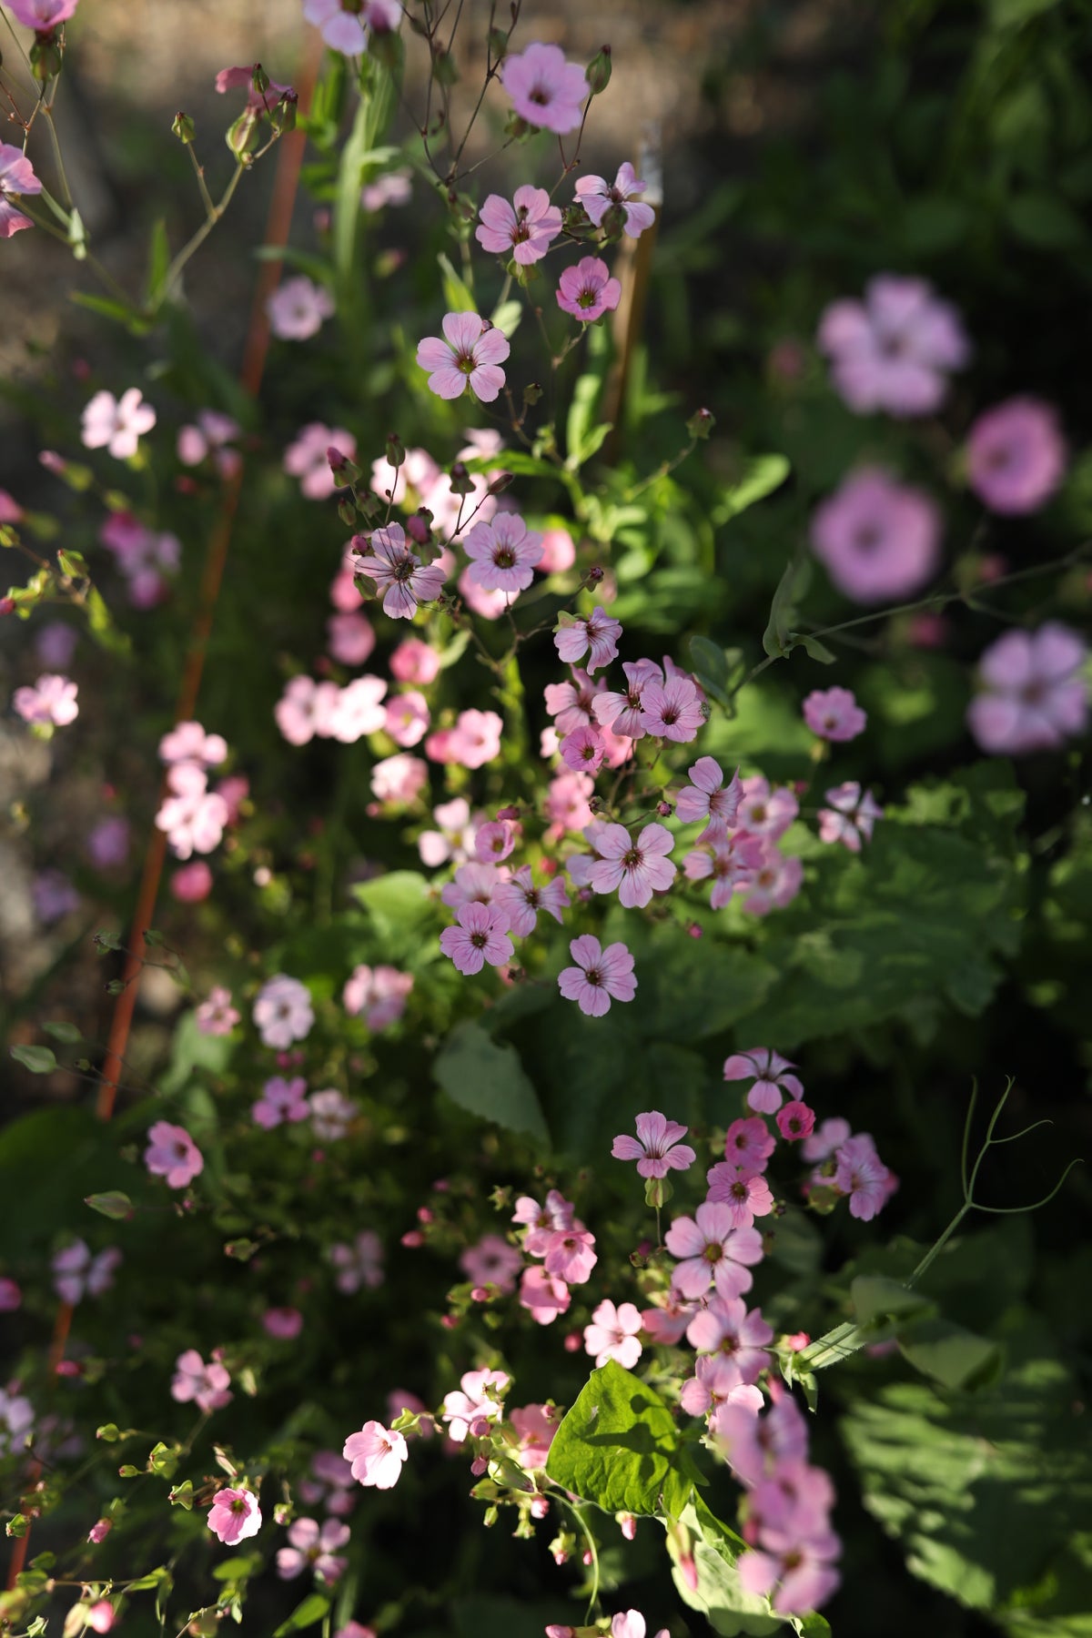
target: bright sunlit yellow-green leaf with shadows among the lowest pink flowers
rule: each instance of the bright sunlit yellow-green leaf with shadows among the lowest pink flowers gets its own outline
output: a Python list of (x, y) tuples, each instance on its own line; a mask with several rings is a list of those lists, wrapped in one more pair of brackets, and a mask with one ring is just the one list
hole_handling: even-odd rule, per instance
[(668, 1518), (681, 1515), (696, 1477), (663, 1399), (614, 1360), (562, 1419), (547, 1476), (606, 1514)]

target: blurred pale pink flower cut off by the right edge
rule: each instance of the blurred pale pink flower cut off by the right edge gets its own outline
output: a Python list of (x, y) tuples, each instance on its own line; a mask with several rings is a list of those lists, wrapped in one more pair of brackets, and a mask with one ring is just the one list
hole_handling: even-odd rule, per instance
[(1082, 734), (1089, 690), (1084, 639), (1058, 621), (1038, 631), (1007, 631), (979, 660), (982, 693), (968, 709), (976, 740), (994, 755), (1053, 750)]

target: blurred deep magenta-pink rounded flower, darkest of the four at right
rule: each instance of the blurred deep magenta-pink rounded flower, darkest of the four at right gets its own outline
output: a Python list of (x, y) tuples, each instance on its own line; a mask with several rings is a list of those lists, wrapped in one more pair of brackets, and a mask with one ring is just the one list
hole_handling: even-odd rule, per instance
[(1058, 413), (1040, 398), (1007, 398), (981, 414), (968, 434), (968, 482), (990, 511), (1038, 511), (1064, 472)]

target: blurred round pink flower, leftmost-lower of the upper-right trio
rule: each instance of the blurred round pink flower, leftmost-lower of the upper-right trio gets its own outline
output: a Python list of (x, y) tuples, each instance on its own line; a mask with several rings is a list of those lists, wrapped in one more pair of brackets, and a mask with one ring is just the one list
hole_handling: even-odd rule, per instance
[(812, 516), (812, 550), (855, 603), (905, 598), (933, 578), (940, 514), (928, 495), (863, 468)]

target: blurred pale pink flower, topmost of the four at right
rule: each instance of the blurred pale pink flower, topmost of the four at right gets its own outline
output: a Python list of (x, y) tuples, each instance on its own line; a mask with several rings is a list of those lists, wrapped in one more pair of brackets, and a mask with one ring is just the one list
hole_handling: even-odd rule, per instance
[(822, 316), (819, 349), (832, 360), (833, 383), (850, 410), (866, 414), (932, 414), (948, 391), (946, 370), (959, 370), (971, 347), (959, 316), (925, 278), (879, 274), (864, 301), (835, 301)]

